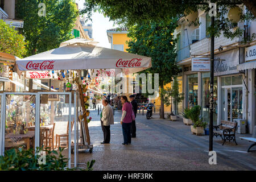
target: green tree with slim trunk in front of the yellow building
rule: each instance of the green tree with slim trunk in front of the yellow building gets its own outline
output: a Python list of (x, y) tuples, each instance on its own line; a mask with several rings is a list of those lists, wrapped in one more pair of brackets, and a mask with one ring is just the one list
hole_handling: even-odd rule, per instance
[[(144, 70), (144, 73), (159, 73), (159, 84), (161, 93), (164, 84), (172, 81), (179, 69), (176, 64), (176, 48), (174, 30), (177, 20), (169, 22), (151, 22), (133, 26), (129, 29), (127, 36), (128, 52), (148, 56), (152, 59), (152, 67)], [(161, 94), (161, 118), (164, 118), (163, 96)]]

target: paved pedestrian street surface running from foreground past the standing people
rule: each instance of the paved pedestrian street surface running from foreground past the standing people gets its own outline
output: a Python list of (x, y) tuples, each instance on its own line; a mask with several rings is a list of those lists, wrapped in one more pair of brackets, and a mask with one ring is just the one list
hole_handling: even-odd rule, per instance
[[(100, 115), (97, 110), (90, 111), (90, 140), (93, 152), (79, 152), (79, 166), (94, 159), (95, 171), (168, 171), (168, 170), (255, 170), (256, 152), (247, 153), (250, 142), (241, 140), (237, 134), (236, 146), (226, 142), (222, 146), (221, 138), (214, 138), (214, 151), (217, 152), (217, 165), (210, 165), (208, 156), (209, 136), (191, 134), (190, 126), (178, 121), (159, 119), (159, 114), (146, 119), (146, 115), (137, 114), (137, 138), (131, 144), (123, 146), (122, 127), (119, 123), (121, 111), (115, 110), (114, 125), (111, 125), (110, 144), (101, 144), (103, 133)], [(250, 134), (244, 134), (249, 137)]]

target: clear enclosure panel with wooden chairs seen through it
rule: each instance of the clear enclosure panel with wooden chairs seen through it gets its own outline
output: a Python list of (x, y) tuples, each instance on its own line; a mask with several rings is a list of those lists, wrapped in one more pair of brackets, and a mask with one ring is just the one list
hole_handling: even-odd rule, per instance
[[(59, 147), (68, 148), (68, 96), (41, 94), (40, 101), (40, 145), (49, 147), (49, 150), (56, 150)], [(73, 123), (75, 113), (74, 105), (71, 105)]]

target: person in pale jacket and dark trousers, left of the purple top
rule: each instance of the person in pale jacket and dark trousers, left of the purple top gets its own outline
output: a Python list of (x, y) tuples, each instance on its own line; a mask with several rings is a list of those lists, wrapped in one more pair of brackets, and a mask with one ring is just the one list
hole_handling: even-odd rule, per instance
[(101, 144), (105, 144), (110, 142), (110, 125), (114, 125), (114, 115), (108, 100), (103, 100), (102, 105), (104, 108), (102, 109), (101, 127), (104, 134), (104, 140)]

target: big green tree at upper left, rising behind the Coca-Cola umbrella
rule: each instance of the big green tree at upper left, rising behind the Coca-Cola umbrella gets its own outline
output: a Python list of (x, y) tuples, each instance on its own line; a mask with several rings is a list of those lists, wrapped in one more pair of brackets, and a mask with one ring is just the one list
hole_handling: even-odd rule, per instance
[[(39, 3), (45, 3), (46, 16), (39, 16)], [(27, 56), (57, 48), (61, 42), (72, 39), (77, 15), (72, 0), (18, 0), (15, 16), (24, 20), (24, 27), (19, 31), (27, 41)]]

